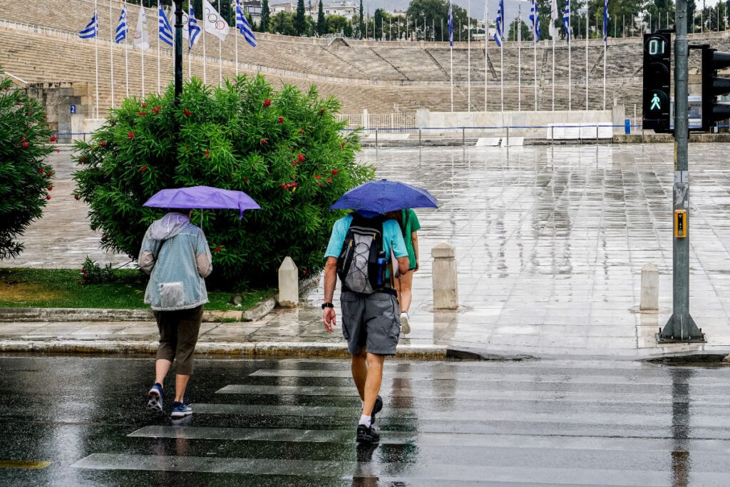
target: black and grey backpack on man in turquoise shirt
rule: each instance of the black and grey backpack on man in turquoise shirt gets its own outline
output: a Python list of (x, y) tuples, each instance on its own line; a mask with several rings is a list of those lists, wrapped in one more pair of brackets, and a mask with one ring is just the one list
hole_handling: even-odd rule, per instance
[[(337, 275), (344, 291), (372, 294), (387, 288), (383, 222), (385, 216), (365, 218), (353, 213), (342, 252), (337, 261)], [(380, 260), (380, 262), (379, 262)]]

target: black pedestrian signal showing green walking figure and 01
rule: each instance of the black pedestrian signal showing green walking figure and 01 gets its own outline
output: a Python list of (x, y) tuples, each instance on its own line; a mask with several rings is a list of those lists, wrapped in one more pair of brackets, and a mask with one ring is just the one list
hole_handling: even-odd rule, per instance
[(669, 95), (672, 34), (644, 34), (643, 126), (657, 132), (669, 131)]

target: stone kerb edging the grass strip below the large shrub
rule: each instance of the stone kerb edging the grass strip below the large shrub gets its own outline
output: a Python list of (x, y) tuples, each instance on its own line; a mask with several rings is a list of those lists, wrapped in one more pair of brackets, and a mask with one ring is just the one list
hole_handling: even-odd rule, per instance
[[(268, 315), (277, 305), (274, 296), (262, 299), (247, 310), (203, 312), (203, 321), (256, 321)], [(152, 310), (103, 308), (0, 308), (0, 322), (68, 322), (68, 321), (155, 321)]]

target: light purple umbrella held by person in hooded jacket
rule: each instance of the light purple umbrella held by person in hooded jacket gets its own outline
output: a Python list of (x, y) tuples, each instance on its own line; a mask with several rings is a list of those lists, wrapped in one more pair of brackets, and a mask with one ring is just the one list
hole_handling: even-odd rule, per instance
[(243, 191), (193, 186), (192, 188), (164, 189), (148, 199), (144, 207), (154, 208), (199, 208), (201, 210), (261, 210), (250, 196)]

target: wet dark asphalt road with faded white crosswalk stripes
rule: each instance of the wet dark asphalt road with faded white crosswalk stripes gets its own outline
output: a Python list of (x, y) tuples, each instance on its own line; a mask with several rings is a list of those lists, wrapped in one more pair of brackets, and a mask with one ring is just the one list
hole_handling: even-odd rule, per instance
[(358, 448), (347, 361), (199, 359), (181, 423), (144, 409), (152, 367), (0, 357), (0, 485), (729, 482), (730, 368), (393, 360)]

